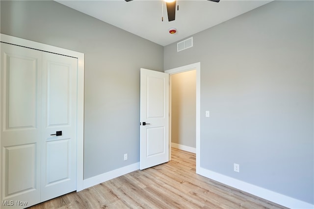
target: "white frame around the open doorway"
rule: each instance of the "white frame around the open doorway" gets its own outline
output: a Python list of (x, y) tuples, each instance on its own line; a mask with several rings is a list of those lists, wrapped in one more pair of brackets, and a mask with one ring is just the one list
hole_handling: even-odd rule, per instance
[[(201, 62), (166, 70), (169, 75), (196, 70), (196, 173), (200, 169), (200, 142), (201, 142)], [(171, 106), (169, 105), (171, 111)], [(169, 160), (171, 159), (171, 112), (169, 112)]]

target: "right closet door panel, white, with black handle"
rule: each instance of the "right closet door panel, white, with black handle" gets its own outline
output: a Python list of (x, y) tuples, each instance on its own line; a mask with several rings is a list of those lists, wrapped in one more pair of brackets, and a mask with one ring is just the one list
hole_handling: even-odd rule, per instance
[(76, 190), (77, 69), (77, 58), (43, 52), (41, 202)]

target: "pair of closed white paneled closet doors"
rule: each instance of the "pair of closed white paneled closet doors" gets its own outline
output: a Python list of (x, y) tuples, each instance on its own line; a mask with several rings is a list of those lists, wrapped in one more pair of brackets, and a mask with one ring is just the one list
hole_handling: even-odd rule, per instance
[(1, 208), (76, 190), (77, 59), (1, 43), (0, 89)]

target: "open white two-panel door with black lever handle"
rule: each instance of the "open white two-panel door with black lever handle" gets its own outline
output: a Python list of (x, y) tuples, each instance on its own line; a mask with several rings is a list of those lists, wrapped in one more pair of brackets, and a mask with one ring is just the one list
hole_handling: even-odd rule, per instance
[(140, 169), (169, 161), (169, 74), (141, 68)]

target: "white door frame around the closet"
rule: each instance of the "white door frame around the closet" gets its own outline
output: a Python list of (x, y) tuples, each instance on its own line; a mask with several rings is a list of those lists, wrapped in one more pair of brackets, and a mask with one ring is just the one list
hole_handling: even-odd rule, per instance
[(0, 41), (17, 46), (52, 52), (78, 58), (78, 111), (77, 111), (77, 191), (83, 190), (83, 151), (84, 151), (84, 53), (66, 50), (50, 45), (29, 41), (14, 36), (0, 34)]

